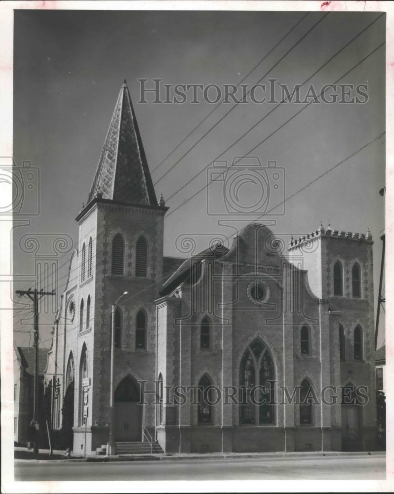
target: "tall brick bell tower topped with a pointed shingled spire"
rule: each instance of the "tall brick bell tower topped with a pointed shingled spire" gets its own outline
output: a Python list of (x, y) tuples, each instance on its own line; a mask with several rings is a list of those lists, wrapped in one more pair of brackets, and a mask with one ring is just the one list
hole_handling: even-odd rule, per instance
[[(78, 362), (82, 357), (88, 360), (85, 373), (90, 377), (90, 387), (94, 388), (88, 398), (90, 444), (87, 441), (87, 449), (90, 451), (108, 442), (112, 304), (117, 301), (114, 313), (114, 423), (132, 423), (132, 440), (137, 441), (142, 440), (143, 427), (154, 426), (153, 407), (145, 407), (144, 413), (139, 413), (141, 407), (137, 410), (135, 396), (130, 396), (132, 405), (125, 408), (124, 403), (128, 402), (123, 391), (130, 387), (130, 382), (137, 389), (139, 380), (155, 379), (154, 300), (158, 298), (162, 280), (163, 220), (167, 209), (164, 201), (160, 200), (158, 204), (124, 81), (87, 205), (76, 218), (79, 223), (79, 303), (84, 300), (81, 310), (86, 311), (89, 300), (90, 313), (89, 323), (82, 326), (78, 335)], [(128, 294), (120, 298), (124, 292)], [(82, 429), (84, 432), (83, 407), (77, 405), (83, 397), (80, 388), (81, 380), (77, 378), (74, 451), (79, 451), (83, 442)], [(120, 390), (118, 394), (117, 389)], [(134, 395), (136, 393), (138, 389)], [(117, 409), (117, 396), (120, 395), (126, 401)], [(123, 416), (118, 420), (120, 409), (121, 413), (130, 415), (127, 420)], [(127, 436), (130, 430), (115, 430), (115, 440), (130, 440)]]

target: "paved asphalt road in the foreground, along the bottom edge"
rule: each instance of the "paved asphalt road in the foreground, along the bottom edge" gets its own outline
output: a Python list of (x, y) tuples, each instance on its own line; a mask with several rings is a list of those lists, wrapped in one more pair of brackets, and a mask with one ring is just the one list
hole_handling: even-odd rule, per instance
[(111, 463), (16, 462), (15, 481), (380, 480), (385, 455), (177, 459)]

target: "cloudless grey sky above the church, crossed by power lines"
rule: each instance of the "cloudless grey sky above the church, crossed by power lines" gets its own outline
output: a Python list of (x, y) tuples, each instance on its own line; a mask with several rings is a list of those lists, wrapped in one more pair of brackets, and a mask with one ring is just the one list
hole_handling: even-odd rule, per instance
[[(324, 227), (330, 221), (331, 228), (339, 231), (366, 233), (369, 228), (375, 241), (376, 299), (380, 233), (385, 227), (379, 190), (385, 183), (386, 47), (378, 48), (386, 38), (385, 15), (378, 19), (380, 12), (323, 11), (310, 12), (302, 19), (306, 13), (15, 10), (13, 159), (17, 166), (27, 161), (38, 168), (35, 191), (39, 194), (32, 193), (23, 206), (38, 208), (38, 214), (24, 216), (22, 210), (18, 216), (30, 224), (16, 227), (14, 223), (14, 275), (19, 275), (14, 290), (32, 285), (29, 276), (35, 271), (35, 259), (50, 256), (54, 240), (63, 238), (65, 251), (54, 258), (58, 281), (45, 287), (50, 290), (56, 285), (59, 300), (69, 249), (78, 241), (75, 217), (82, 203), (86, 204), (118, 92), (126, 79), (156, 195), (162, 194), (169, 207), (164, 220), (165, 255), (187, 257), (205, 248), (212, 238), (231, 241), (237, 228), (254, 220), (266, 222), (286, 244), (291, 235), (316, 230), (320, 221)], [(224, 84), (236, 85), (247, 76), (242, 83), (249, 87), (262, 78), (261, 83), (268, 84), (271, 78), (293, 88), (316, 71), (306, 87), (313, 84), (317, 94), (324, 84), (342, 78), (338, 83), (365, 84), (367, 101), (319, 102), (306, 107), (306, 103), (294, 102), (260, 104), (249, 98), (245, 104), (221, 104), (204, 121), (216, 105), (203, 96), (199, 103), (191, 103), (191, 97), (183, 104), (153, 103), (149, 93), (147, 103), (139, 102), (142, 79), (150, 88), (156, 78), (173, 86), (216, 84), (223, 89)], [(306, 88), (302, 91), (305, 95)], [(207, 94), (213, 99), (215, 90)], [(260, 99), (262, 92), (256, 95)], [(276, 110), (226, 151), (275, 106)], [(265, 214), (261, 208), (260, 215), (240, 218), (227, 211), (221, 183), (206, 187), (205, 168), (212, 168), (214, 160), (231, 164), (245, 155), (258, 158), (263, 166), (276, 162), (281, 185), (277, 191), (272, 189)], [(238, 192), (241, 202), (258, 201), (259, 191), (253, 184)], [(284, 205), (283, 198), (289, 198)], [(23, 244), (26, 236), (38, 239), (39, 251)], [(194, 251), (182, 247), (185, 237), (195, 242)], [(41, 311), (41, 340), (47, 347), (56, 301), (52, 306), (47, 298)], [(28, 345), (29, 333), (20, 332), (31, 328), (31, 321), (23, 321), (20, 311), (25, 300), (15, 302), (15, 340)], [(378, 343), (383, 341), (382, 330)]]

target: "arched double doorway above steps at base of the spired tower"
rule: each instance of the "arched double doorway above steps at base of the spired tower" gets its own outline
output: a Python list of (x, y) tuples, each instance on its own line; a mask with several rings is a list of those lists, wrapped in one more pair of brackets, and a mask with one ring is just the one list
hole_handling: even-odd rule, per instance
[(125, 377), (115, 391), (115, 441), (142, 441), (142, 409), (138, 405), (140, 386), (130, 377)]

